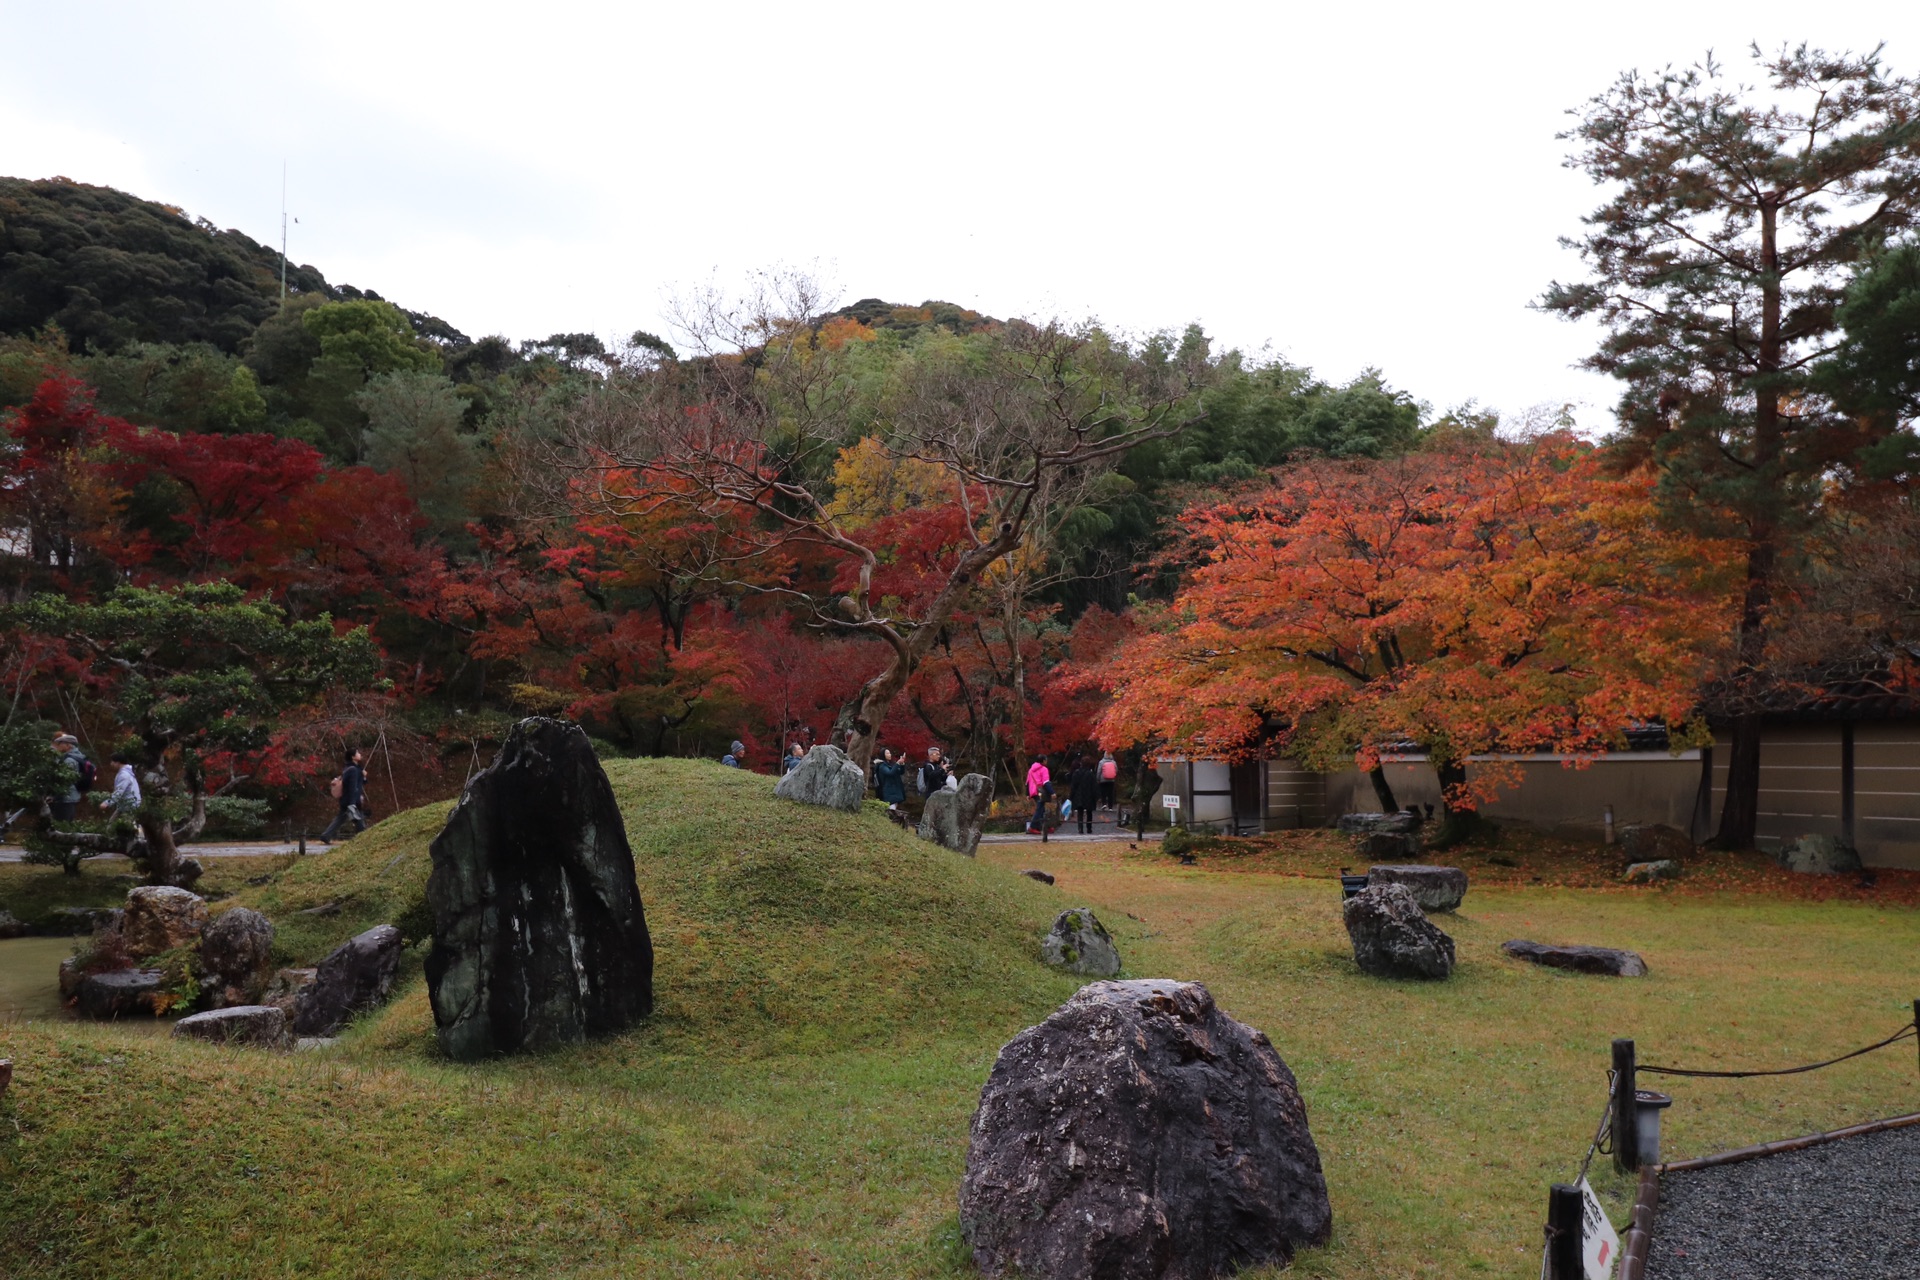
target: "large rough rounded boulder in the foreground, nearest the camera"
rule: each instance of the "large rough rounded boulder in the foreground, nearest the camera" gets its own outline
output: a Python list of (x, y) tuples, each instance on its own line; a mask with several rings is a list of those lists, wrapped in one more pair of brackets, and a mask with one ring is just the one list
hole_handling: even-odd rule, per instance
[(1198, 1280), (1332, 1230), (1300, 1088), (1206, 986), (1092, 983), (1014, 1036), (973, 1113), (960, 1230), (989, 1276)]

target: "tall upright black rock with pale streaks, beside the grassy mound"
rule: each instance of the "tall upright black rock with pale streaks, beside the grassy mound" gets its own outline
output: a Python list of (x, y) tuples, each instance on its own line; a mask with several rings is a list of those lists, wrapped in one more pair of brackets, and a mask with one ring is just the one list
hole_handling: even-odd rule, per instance
[(453, 1057), (570, 1044), (653, 1011), (653, 940), (580, 725), (522, 720), (434, 841), (426, 984)]

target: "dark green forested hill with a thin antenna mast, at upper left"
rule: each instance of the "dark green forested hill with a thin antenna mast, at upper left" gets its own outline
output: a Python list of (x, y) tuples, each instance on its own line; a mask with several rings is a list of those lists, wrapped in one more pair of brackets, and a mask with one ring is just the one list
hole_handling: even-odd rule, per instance
[[(286, 288), (378, 297), (294, 263)], [(244, 232), (109, 186), (0, 177), (0, 334), (52, 324), (75, 351), (204, 342), (238, 353), (278, 305), (280, 253)], [(465, 342), (434, 317), (407, 315), (422, 336)]]

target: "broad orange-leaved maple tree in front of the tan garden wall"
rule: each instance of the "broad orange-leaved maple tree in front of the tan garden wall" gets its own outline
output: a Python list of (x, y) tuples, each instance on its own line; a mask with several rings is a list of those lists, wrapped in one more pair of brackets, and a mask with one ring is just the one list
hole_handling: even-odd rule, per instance
[(1738, 622), (1732, 549), (1661, 530), (1651, 480), (1569, 434), (1300, 462), (1181, 520), (1196, 568), (1098, 670), (1100, 739), (1354, 762), (1388, 810), (1380, 754), (1407, 745), (1452, 814), (1501, 781), (1469, 783), (1475, 754), (1699, 737)]

